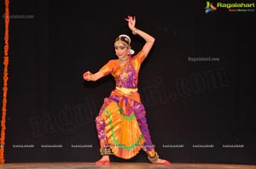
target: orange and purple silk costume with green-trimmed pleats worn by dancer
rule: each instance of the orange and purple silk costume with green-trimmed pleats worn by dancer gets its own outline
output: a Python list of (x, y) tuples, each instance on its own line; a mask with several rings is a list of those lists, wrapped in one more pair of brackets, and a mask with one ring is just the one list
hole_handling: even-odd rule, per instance
[(111, 73), (116, 82), (116, 88), (104, 99), (96, 116), (101, 155), (130, 159), (143, 149), (149, 161), (159, 158), (151, 142), (146, 111), (137, 92), (138, 73), (145, 58), (141, 50), (125, 65), (119, 65), (118, 59), (112, 59), (100, 69), (104, 76)]

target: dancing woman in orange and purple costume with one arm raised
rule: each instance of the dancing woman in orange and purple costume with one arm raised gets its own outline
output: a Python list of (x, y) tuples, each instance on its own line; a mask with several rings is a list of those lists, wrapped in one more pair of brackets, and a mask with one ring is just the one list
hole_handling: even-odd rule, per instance
[(154, 45), (154, 37), (135, 27), (136, 18), (125, 18), (134, 35), (143, 37), (145, 44), (135, 56), (131, 49), (131, 38), (120, 35), (114, 42), (118, 59), (111, 59), (98, 72), (86, 71), (85, 81), (97, 81), (110, 73), (116, 87), (108, 98), (104, 99), (99, 115), (96, 116), (96, 130), (100, 141), (102, 158), (96, 164), (109, 164), (109, 155), (131, 159), (143, 149), (148, 160), (154, 164), (170, 165), (159, 158), (148, 131), (146, 111), (138, 93), (138, 74), (143, 60)]

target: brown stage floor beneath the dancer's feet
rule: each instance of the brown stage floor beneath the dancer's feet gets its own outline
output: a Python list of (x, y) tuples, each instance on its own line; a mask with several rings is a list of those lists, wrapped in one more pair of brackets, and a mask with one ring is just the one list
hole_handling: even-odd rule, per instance
[(256, 169), (256, 165), (234, 164), (191, 164), (172, 163), (170, 166), (138, 162), (112, 162), (109, 165), (96, 165), (89, 162), (47, 162), (47, 163), (7, 163), (0, 164), (0, 169)]

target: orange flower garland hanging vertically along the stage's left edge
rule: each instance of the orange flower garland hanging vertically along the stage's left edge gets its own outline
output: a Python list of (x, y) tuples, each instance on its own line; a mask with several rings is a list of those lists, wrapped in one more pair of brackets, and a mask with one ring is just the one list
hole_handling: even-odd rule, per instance
[(3, 56), (3, 105), (1, 120), (1, 138), (0, 138), (0, 163), (4, 163), (4, 141), (5, 141), (5, 117), (7, 104), (7, 82), (8, 82), (8, 65), (9, 65), (9, 0), (5, 0), (4, 14), (4, 56)]

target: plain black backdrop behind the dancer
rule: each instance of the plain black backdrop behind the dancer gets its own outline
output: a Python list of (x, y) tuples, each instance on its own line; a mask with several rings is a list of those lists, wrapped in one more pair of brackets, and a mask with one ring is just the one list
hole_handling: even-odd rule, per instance
[[(160, 156), (255, 164), (254, 12), (218, 8), (206, 14), (206, 3), (10, 1), (10, 14), (21, 18), (9, 25), (5, 160), (100, 158), (94, 120), (114, 82), (111, 76), (84, 82), (82, 75), (116, 58), (113, 40), (119, 34), (131, 37), (136, 52), (143, 47), (124, 20), (129, 14), (136, 15), (138, 29), (156, 38), (140, 71), (139, 92)], [(2, 16), (3, 1), (0, 8)], [(3, 26), (2, 17), (2, 63)], [(219, 60), (190, 60), (198, 57)], [(147, 158), (141, 151), (130, 161)]]

